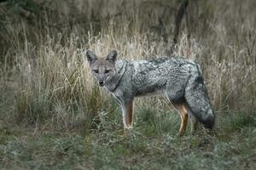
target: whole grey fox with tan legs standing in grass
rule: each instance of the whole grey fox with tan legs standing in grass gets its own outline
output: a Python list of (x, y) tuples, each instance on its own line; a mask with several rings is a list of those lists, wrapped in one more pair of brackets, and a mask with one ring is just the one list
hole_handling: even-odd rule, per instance
[(90, 50), (86, 56), (96, 82), (118, 100), (126, 128), (132, 127), (135, 97), (165, 94), (180, 113), (179, 135), (184, 133), (188, 116), (191, 133), (195, 133), (198, 121), (212, 129), (215, 116), (200, 66), (194, 61), (183, 58), (128, 61), (117, 59), (115, 50), (106, 58), (98, 58)]

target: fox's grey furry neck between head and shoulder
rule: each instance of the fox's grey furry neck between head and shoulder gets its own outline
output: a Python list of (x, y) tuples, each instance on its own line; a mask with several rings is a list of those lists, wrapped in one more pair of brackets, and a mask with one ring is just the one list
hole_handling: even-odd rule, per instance
[(123, 64), (121, 64), (120, 66), (117, 63), (115, 76), (111, 80), (106, 82), (106, 85), (105, 85), (105, 88), (107, 88), (108, 91), (113, 92), (118, 87), (119, 82), (121, 81), (121, 79), (125, 73), (125, 67), (127, 65), (126, 62), (127, 61), (124, 60)]

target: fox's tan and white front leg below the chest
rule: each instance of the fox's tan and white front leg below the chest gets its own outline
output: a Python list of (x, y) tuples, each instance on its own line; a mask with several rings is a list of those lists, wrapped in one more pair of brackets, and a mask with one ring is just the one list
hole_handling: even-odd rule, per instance
[(122, 106), (123, 110), (123, 123), (125, 128), (132, 128), (133, 120), (133, 101), (127, 102)]

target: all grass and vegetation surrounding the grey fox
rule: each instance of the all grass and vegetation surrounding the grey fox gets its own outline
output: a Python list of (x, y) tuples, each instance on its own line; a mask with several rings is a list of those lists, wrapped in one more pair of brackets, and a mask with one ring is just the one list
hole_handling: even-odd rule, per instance
[[(0, 3), (0, 169), (254, 169), (256, 4), (189, 1)], [(185, 56), (201, 64), (217, 115), (214, 133), (189, 127), (164, 97), (136, 99), (124, 130), (115, 100), (84, 58)]]

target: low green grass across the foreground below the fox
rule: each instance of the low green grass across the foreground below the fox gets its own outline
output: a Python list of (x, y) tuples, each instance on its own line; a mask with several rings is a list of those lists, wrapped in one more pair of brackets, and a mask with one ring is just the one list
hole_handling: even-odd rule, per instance
[[(94, 129), (85, 135), (46, 129), (35, 133), (32, 127), (1, 123), (0, 168), (253, 169), (255, 166), (255, 124), (240, 125), (232, 132), (221, 129), (214, 135), (200, 127), (195, 135), (179, 138), (175, 135), (177, 127), (162, 132), (150, 123), (152, 120), (140, 120), (134, 129), (124, 132), (116, 124), (121, 121), (117, 118), (105, 122), (110, 128)], [(169, 127), (173, 120), (170, 118)], [(225, 123), (218, 128), (225, 127)]]

